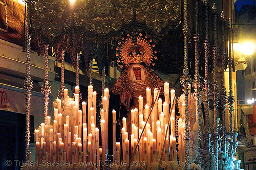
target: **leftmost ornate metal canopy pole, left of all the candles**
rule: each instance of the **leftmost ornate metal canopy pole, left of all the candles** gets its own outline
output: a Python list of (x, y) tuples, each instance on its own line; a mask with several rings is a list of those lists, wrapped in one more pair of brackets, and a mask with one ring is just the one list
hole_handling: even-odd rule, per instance
[(26, 77), (24, 80), (25, 88), (25, 100), (26, 100), (26, 132), (25, 132), (25, 160), (29, 161), (29, 141), (30, 141), (30, 131), (29, 131), (29, 116), (30, 116), (30, 96), (31, 89), (33, 88), (33, 82), (30, 77), (30, 5), (31, 1), (26, 1), (27, 5), (27, 15), (26, 15)]

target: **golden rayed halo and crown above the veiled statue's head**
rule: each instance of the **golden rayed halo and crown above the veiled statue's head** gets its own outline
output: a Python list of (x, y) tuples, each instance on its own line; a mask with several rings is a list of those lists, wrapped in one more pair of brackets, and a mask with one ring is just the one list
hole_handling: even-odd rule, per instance
[(137, 46), (135, 46), (132, 37), (129, 37), (121, 44), (119, 57), (125, 66), (131, 63), (150, 65), (154, 53), (152, 46), (146, 39), (137, 37)]

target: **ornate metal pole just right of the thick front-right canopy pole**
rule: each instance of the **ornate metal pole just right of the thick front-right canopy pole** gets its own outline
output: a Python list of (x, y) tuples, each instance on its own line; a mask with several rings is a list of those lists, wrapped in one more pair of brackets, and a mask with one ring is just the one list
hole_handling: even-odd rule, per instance
[[(196, 0), (195, 4), (195, 18), (196, 18), (196, 34), (195, 34), (195, 80), (194, 80), (194, 88), (195, 88), (195, 99), (196, 99), (196, 121), (200, 125), (200, 89), (201, 82), (199, 79), (199, 23), (198, 23), (198, 0)], [(198, 157), (197, 162), (201, 166), (201, 130), (199, 126), (198, 131)]]

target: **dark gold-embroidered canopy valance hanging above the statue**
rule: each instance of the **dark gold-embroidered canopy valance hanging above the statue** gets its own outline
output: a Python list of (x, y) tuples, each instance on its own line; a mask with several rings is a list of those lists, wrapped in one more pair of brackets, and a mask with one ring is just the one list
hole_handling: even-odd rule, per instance
[(73, 5), (68, 0), (32, 0), (31, 3), (32, 36), (40, 35), (41, 40), (51, 44), (74, 33), (101, 41), (105, 37), (120, 37), (120, 30), (144, 26), (159, 35), (181, 23), (180, 0), (77, 0)]

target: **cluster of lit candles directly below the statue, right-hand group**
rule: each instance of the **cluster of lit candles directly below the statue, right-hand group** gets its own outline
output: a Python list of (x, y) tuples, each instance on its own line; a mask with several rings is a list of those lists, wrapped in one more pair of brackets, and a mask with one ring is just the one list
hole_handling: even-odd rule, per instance
[[(154, 101), (157, 99), (158, 90), (154, 90)], [(131, 110), (131, 134), (127, 132), (126, 118), (122, 119), (122, 150), (123, 161), (129, 162), (130, 156), (133, 155), (132, 161), (144, 161), (148, 166), (152, 162), (158, 162), (163, 151), (162, 161), (177, 161), (176, 150), (176, 127), (175, 127), (175, 90), (170, 91), (169, 86), (164, 84), (165, 102), (158, 99), (155, 105), (151, 101), (151, 89), (146, 89), (146, 105), (143, 108), (143, 97), (139, 96), (139, 110)], [(169, 107), (170, 103), (170, 107)], [(174, 105), (174, 107), (172, 107)], [(169, 108), (170, 116), (169, 116)], [(182, 104), (181, 118), (178, 120), (178, 144), (179, 158), (184, 161), (184, 103)], [(152, 109), (152, 111), (151, 111)], [(152, 112), (152, 113), (151, 113)], [(148, 118), (151, 113), (151, 118)], [(170, 120), (168, 119), (170, 117)], [(146, 123), (148, 119), (148, 122)], [(170, 132), (167, 131), (168, 123)], [(144, 128), (145, 127), (145, 128)], [(142, 130), (144, 132), (142, 133)], [(166, 132), (167, 131), (167, 132)], [(166, 134), (167, 133), (167, 134)], [(129, 136), (130, 135), (130, 136)], [(129, 137), (128, 137), (129, 136)], [(164, 140), (165, 141), (165, 147)], [(129, 140), (130, 139), (130, 140)], [(138, 143), (139, 142), (139, 143)], [(138, 147), (136, 145), (138, 144)], [(131, 145), (131, 148), (127, 146)], [(131, 154), (129, 154), (131, 153)], [(182, 157), (183, 155), (183, 157)]]

